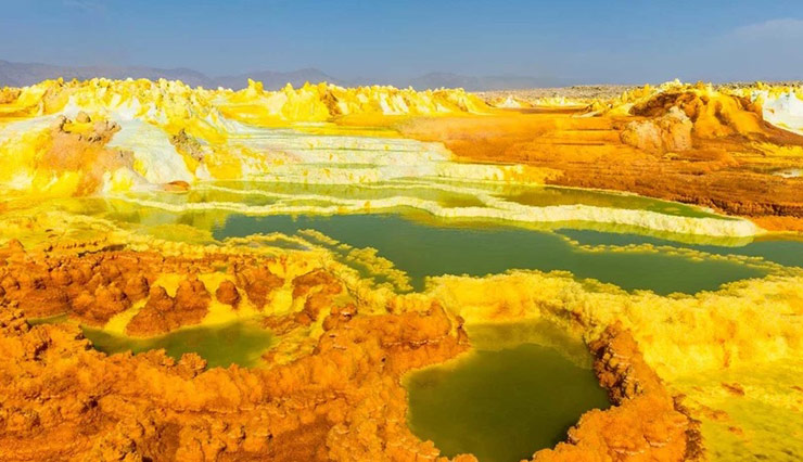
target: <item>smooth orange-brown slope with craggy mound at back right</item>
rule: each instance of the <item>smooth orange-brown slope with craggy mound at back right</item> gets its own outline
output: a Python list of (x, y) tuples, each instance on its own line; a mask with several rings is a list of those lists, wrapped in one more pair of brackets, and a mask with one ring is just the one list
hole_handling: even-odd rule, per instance
[(803, 137), (762, 118), (757, 104), (693, 88), (628, 110), (499, 110), (419, 118), (407, 137), (442, 141), (464, 161), (555, 170), (548, 183), (628, 191), (703, 205), (773, 230), (803, 229)]

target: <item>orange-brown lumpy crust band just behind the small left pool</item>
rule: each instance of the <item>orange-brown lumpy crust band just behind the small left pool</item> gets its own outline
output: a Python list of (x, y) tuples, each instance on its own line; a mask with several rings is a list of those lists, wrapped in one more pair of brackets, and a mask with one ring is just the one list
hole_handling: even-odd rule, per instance
[[(242, 293), (250, 306), (263, 311), (271, 296), (285, 285), (285, 280), (269, 269), (272, 265), (285, 265), (281, 258), (254, 259), (222, 253), (200, 258), (165, 257), (155, 252), (127, 251), (56, 256), (28, 254), (17, 241), (12, 241), (0, 255), (7, 261), (0, 267), (3, 304), (27, 304), (26, 315), (30, 317), (66, 313), (95, 326), (103, 326), (112, 317), (140, 304), (125, 329), (136, 336), (153, 336), (201, 323), (208, 313), (213, 294), (221, 304), (234, 307), (240, 305)], [(230, 270), (220, 274), (220, 266)], [(228, 279), (209, 287), (199, 279), (214, 274)], [(163, 279), (178, 281), (173, 294), (160, 285)], [(296, 318), (307, 325), (323, 307), (330, 308), (332, 297), (342, 292), (340, 282), (320, 269), (293, 278), (289, 285), (292, 299), (303, 306)]]

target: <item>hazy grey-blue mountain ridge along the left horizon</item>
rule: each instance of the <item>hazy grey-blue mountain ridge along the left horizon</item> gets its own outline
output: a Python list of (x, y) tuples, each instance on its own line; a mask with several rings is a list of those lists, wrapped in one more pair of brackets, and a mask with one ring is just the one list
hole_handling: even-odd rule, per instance
[[(201, 72), (188, 68), (163, 69), (143, 66), (58, 66), (40, 63), (12, 63), (0, 60), (0, 88), (25, 87), (38, 84), (46, 79), (63, 77), (66, 80), (74, 78), (87, 80), (93, 77), (112, 79), (146, 78), (157, 80), (181, 80), (191, 87), (231, 88), (240, 90), (247, 87), (248, 79), (263, 82), (266, 90), (279, 90), (285, 85), (301, 87), (305, 82), (318, 84), (327, 81), (344, 87), (366, 85), (370, 79), (341, 79), (316, 68), (304, 68), (292, 72), (259, 70), (240, 75), (209, 77)], [(375, 84), (382, 82), (378, 79)], [(468, 91), (482, 90), (517, 90), (525, 88), (561, 87), (574, 81), (548, 77), (527, 76), (486, 76), (475, 77), (450, 73), (430, 73), (409, 79), (394, 79), (386, 81), (399, 88), (412, 87), (417, 90), (436, 88), (464, 88)]]

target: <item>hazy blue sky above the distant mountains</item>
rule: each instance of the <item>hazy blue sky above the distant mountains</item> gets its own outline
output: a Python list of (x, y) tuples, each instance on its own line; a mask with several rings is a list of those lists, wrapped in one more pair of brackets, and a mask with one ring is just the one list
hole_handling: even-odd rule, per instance
[(0, 60), (583, 84), (803, 79), (803, 3), (0, 0)]

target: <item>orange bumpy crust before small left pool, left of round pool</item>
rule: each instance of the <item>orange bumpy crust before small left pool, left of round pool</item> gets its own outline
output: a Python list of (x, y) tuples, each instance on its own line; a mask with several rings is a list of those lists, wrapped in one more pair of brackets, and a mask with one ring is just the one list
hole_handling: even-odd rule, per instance
[(205, 371), (195, 355), (107, 357), (72, 324), (0, 309), (0, 459), (434, 461), (407, 428), (399, 376), (463, 350), (460, 326), (437, 305), (334, 309), (323, 324), (291, 363)]

